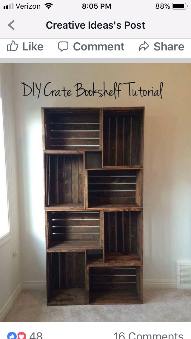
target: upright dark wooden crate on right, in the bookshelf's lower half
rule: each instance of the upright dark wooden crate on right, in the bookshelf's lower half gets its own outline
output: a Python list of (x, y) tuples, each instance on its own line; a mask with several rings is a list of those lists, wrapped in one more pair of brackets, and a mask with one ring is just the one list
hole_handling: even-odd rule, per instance
[[(104, 212), (105, 262), (121, 264), (135, 259), (142, 264), (142, 212)], [(131, 256), (132, 255), (132, 256)]]

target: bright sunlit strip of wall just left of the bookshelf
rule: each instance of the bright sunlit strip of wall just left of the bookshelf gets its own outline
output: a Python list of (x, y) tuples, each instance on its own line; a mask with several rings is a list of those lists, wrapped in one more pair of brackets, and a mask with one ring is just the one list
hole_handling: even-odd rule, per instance
[(25, 121), (25, 134), (19, 132), (23, 146), (18, 159), (18, 170), (23, 174), (19, 183), (23, 280), (45, 280), (42, 126), (39, 112), (38, 117), (35, 113)]

